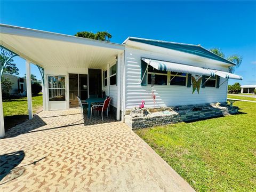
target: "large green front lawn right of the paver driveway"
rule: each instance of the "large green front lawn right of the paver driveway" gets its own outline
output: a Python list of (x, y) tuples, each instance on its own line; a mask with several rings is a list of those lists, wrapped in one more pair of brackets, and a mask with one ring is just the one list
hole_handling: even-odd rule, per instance
[(256, 103), (237, 115), (135, 132), (196, 191), (255, 191)]

